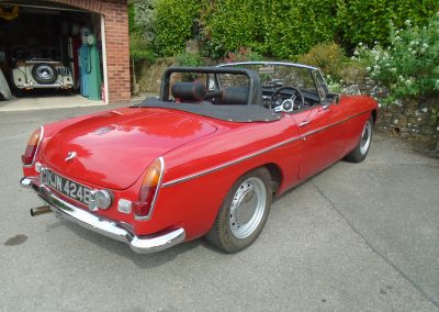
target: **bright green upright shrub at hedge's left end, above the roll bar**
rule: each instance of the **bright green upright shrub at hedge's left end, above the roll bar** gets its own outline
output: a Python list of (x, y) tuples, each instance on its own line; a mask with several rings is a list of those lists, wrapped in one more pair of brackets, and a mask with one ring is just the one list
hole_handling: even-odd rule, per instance
[(182, 53), (185, 42), (192, 38), (194, 20), (200, 14), (195, 0), (158, 0), (155, 10), (154, 46), (160, 56)]

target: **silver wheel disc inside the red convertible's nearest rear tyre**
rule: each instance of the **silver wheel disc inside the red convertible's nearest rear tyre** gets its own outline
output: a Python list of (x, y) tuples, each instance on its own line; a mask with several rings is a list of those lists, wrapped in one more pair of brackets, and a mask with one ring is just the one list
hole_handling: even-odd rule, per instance
[(260, 224), (267, 203), (267, 188), (260, 178), (245, 180), (230, 204), (228, 224), (236, 238), (250, 236)]

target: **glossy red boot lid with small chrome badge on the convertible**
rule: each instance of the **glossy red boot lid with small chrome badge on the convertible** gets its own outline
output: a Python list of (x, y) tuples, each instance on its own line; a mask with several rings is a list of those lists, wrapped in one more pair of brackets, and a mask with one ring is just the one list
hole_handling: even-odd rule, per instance
[(42, 158), (67, 178), (126, 189), (159, 156), (215, 131), (187, 113), (125, 108), (64, 127), (43, 145)]

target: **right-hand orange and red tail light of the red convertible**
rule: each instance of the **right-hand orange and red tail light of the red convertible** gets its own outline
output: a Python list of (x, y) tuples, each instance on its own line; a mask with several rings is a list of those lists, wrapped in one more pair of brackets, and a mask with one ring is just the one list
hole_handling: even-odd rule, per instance
[(147, 220), (150, 218), (154, 204), (157, 200), (157, 193), (161, 187), (165, 161), (162, 157), (157, 158), (146, 170), (142, 181), (138, 201), (133, 202), (135, 218), (137, 220)]

